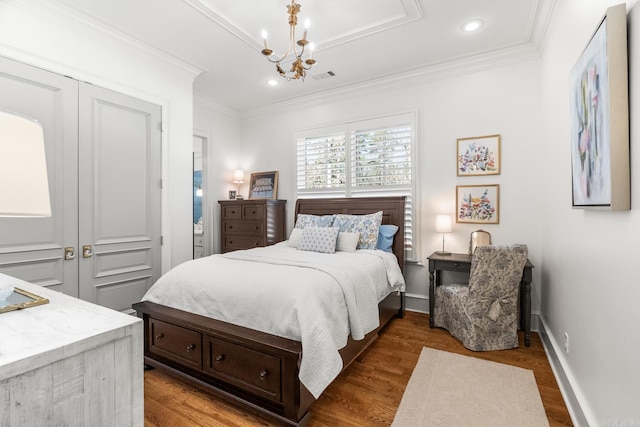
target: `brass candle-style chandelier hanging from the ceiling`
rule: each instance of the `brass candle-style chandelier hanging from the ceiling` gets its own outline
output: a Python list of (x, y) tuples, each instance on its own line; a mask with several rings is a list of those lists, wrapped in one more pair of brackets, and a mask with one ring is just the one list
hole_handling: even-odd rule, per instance
[[(295, 0), (291, 0), (291, 4), (287, 6), (287, 11), (289, 13), (289, 46), (287, 47), (287, 51), (282, 55), (281, 58), (272, 58), (273, 50), (269, 49), (267, 45), (267, 32), (262, 30), (262, 38), (264, 39), (264, 49), (262, 49), (262, 54), (267, 57), (269, 62), (276, 64), (276, 70), (278, 74), (284, 77), (287, 80), (296, 80), (302, 79), (304, 80), (307, 71), (311, 69), (313, 64), (316, 63), (316, 60), (313, 59), (313, 43), (309, 43), (307, 40), (307, 30), (309, 29), (309, 20), (305, 21), (304, 25), (304, 35), (298, 41), (296, 41), (296, 25), (298, 25), (298, 13), (300, 12), (300, 5), (295, 2)], [(309, 58), (306, 60), (302, 60), (302, 55), (304, 55), (304, 50), (306, 46), (309, 46)], [(298, 46), (300, 50), (298, 50)], [(295, 56), (295, 60), (291, 63), (291, 69), (288, 71), (284, 71), (280, 66), (280, 61), (284, 60), (289, 53), (293, 53)]]

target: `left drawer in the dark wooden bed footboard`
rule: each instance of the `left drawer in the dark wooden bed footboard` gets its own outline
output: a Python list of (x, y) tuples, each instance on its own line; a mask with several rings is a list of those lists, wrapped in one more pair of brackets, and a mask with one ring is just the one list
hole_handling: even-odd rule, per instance
[(149, 319), (149, 352), (185, 366), (202, 369), (202, 334)]

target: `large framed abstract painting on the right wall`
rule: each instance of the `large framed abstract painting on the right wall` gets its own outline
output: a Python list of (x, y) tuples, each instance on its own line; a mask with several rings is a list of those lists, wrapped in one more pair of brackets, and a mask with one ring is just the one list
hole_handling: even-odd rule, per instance
[(627, 13), (607, 9), (570, 72), (572, 207), (631, 209)]

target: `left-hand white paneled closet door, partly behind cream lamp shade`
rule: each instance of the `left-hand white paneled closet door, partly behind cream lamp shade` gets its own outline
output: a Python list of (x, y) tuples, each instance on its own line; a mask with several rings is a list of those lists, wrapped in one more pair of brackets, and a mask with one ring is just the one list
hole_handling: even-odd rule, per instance
[(78, 241), (78, 82), (0, 57), (0, 109), (42, 124), (52, 209), (0, 218), (0, 272), (78, 296), (78, 258), (64, 256)]

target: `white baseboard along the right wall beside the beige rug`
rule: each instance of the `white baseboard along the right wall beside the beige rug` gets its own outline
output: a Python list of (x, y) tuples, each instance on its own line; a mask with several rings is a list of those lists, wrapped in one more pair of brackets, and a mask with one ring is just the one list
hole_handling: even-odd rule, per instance
[[(549, 364), (558, 382), (558, 387), (567, 405), (567, 410), (569, 411), (573, 425), (577, 427), (597, 425), (593, 415), (591, 415), (591, 411), (588, 409), (584, 397), (582, 397), (582, 393), (571, 370), (567, 366), (567, 361), (564, 354), (562, 354), (558, 341), (551, 333), (551, 328), (549, 328), (544, 316), (539, 316), (538, 326), (538, 334), (540, 334), (542, 346), (549, 359)], [(589, 420), (591, 420), (591, 422)]]

